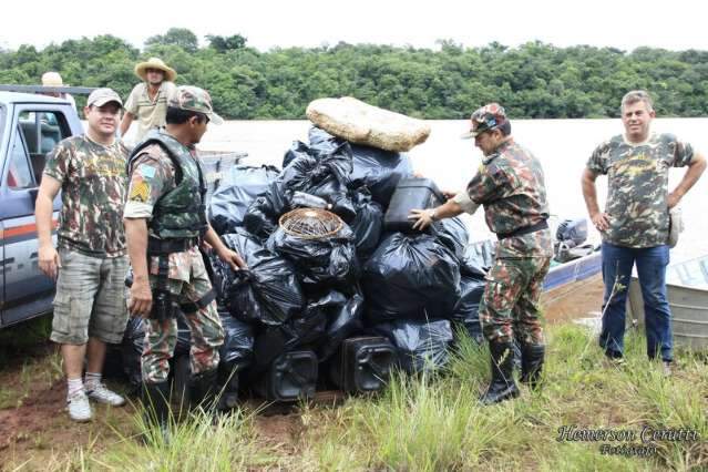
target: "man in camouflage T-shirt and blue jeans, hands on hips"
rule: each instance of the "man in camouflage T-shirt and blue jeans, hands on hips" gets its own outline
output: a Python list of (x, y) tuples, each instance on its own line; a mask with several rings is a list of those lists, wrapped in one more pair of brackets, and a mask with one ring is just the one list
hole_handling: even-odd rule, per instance
[[(647, 92), (627, 93), (620, 111), (625, 134), (595, 148), (582, 178), (587, 212), (603, 237), (605, 295), (599, 345), (609, 359), (623, 362), (627, 287), (636, 263), (645, 304), (647, 355), (654, 359), (660, 353), (669, 374), (673, 336), (665, 280), (669, 209), (698, 181), (706, 161), (673, 134), (649, 132), (655, 112)], [(668, 170), (683, 166), (688, 171), (669, 193)], [(608, 178), (605, 212), (599, 211), (595, 188), (601, 174)]]

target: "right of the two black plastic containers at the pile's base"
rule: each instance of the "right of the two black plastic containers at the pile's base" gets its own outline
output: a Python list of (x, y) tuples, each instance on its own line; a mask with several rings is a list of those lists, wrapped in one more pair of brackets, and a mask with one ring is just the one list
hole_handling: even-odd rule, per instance
[(346, 339), (330, 363), (335, 384), (349, 393), (381, 390), (397, 360), (396, 348), (382, 337)]

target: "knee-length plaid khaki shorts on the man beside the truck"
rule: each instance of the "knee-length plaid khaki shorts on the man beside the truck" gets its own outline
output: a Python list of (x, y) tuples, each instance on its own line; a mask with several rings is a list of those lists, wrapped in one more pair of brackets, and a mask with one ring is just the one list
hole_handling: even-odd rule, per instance
[(59, 257), (50, 339), (62, 345), (85, 345), (90, 337), (121, 342), (127, 324), (127, 256), (92, 257), (60, 248)]

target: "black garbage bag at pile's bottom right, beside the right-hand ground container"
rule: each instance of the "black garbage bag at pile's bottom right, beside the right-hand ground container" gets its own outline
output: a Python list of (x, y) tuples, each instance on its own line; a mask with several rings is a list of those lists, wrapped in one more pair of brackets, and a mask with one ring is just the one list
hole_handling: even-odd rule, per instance
[(399, 320), (376, 325), (373, 331), (396, 346), (399, 365), (409, 373), (434, 371), (448, 363), (452, 327), (447, 319)]

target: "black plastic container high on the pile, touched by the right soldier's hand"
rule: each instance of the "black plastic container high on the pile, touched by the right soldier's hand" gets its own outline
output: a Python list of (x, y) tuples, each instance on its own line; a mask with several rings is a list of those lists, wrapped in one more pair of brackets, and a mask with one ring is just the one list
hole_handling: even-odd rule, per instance
[(408, 219), (411, 209), (433, 208), (444, 202), (445, 197), (430, 178), (401, 178), (383, 216), (383, 227), (389, 232), (409, 233), (413, 230), (413, 220)]

